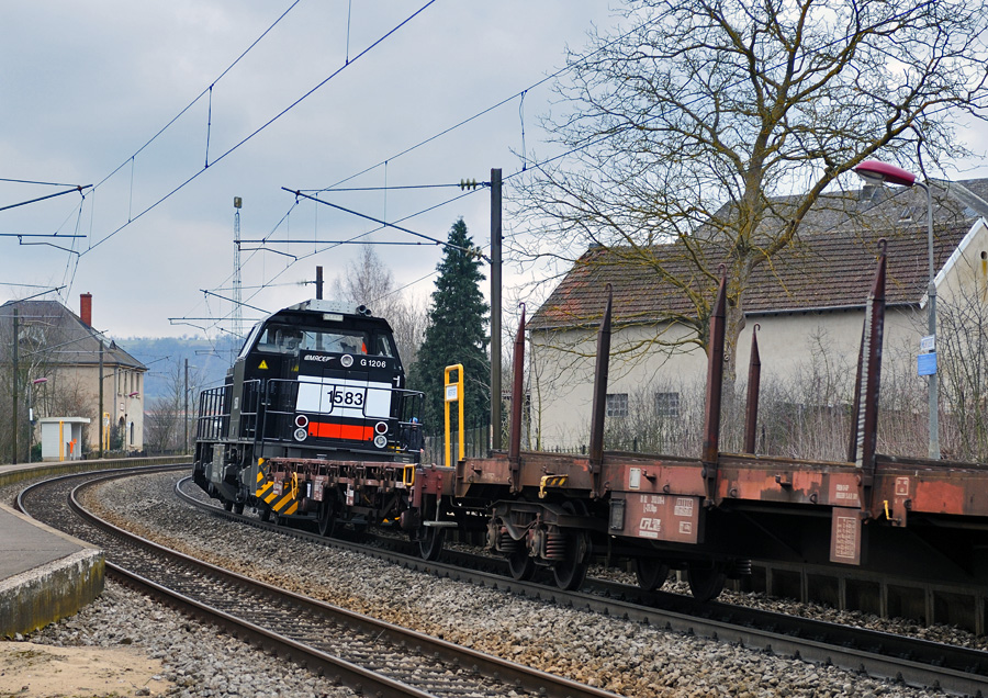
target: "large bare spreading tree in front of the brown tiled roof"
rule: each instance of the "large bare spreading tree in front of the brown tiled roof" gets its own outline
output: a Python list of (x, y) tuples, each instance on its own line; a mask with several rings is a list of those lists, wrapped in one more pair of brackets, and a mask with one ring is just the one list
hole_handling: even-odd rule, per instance
[(624, 14), (630, 31), (595, 31), (570, 57), (563, 111), (544, 120), (570, 157), (528, 169), (514, 206), (539, 235), (512, 245), (661, 279), (675, 301), (656, 326), (688, 330), (667, 349), (706, 345), (726, 263), (733, 358), (754, 269), (828, 188), (869, 157), (964, 154), (958, 120), (986, 119), (984, 2), (629, 0)]

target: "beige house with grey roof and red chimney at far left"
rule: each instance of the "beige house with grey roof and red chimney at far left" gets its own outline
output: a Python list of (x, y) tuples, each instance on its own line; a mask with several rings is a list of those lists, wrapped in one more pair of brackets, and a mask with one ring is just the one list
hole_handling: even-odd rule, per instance
[[(66, 460), (144, 450), (147, 367), (92, 326), (91, 294), (81, 294), (78, 315), (57, 301), (0, 306), (0, 372), (4, 395), (18, 395), (16, 460), (26, 460), (29, 444), (38, 443), (40, 420), (53, 417), (89, 420), (81, 442), (61, 449)], [(0, 427), (0, 460), (8, 462), (14, 458), (12, 430), (13, 420)]]

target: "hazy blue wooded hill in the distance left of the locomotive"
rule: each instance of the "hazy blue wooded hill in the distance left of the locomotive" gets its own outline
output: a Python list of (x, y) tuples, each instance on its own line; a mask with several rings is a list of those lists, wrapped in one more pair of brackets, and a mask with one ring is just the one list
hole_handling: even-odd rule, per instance
[(172, 393), (176, 381), (184, 385), (189, 360), (189, 387), (197, 392), (218, 385), (240, 350), (232, 339), (213, 341), (189, 337), (132, 337), (116, 339), (117, 346), (147, 367), (144, 380), (145, 408), (158, 397)]

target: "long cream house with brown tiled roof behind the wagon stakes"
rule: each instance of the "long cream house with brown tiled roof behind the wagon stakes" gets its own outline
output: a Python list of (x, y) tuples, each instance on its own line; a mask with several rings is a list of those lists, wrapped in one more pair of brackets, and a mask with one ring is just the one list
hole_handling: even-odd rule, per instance
[[(931, 191), (939, 303), (962, 296), (988, 303), (988, 180), (933, 183)], [(773, 210), (777, 218), (765, 227), (784, 223), (786, 201), (775, 201)], [(763, 383), (806, 376), (815, 362), (826, 362), (850, 398), (880, 238), (888, 254), (884, 371), (917, 380), (927, 334), (927, 230), (919, 190), (865, 187), (823, 196), (794, 243), (752, 271), (732, 367), (738, 386), (746, 380), (756, 327)], [(684, 402), (703, 399), (716, 270), (730, 244), (709, 226), (669, 245), (586, 250), (527, 326), (534, 447), (586, 443), (607, 284), (614, 299), (608, 423), (630, 418), (636, 404), (667, 419), (686, 418)], [(703, 264), (695, 263), (698, 257)], [(700, 426), (693, 425), (697, 432)]]

